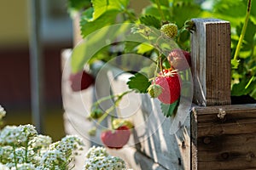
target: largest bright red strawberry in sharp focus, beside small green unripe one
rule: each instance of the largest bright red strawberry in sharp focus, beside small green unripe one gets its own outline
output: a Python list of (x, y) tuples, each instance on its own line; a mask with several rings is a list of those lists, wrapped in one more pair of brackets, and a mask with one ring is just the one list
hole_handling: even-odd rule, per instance
[(164, 70), (155, 78), (155, 84), (160, 85), (162, 93), (158, 99), (164, 104), (172, 104), (180, 97), (180, 82), (176, 71)]

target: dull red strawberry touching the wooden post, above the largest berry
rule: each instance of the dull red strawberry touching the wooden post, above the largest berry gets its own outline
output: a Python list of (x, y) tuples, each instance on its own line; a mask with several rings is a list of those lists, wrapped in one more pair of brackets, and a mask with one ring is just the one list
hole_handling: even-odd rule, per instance
[(191, 66), (190, 53), (188, 51), (184, 51), (183, 49), (173, 49), (172, 52), (167, 56), (167, 59), (172, 67), (179, 71), (186, 70), (189, 68), (189, 66)]

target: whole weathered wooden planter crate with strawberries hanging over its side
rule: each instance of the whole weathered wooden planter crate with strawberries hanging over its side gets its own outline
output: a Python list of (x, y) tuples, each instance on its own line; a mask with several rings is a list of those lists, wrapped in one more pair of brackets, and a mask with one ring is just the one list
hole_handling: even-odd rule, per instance
[[(133, 121), (136, 126), (144, 123), (144, 127), (133, 131), (124, 149), (108, 151), (136, 170), (256, 169), (256, 104), (230, 105), (230, 23), (215, 19), (194, 22), (191, 71), (195, 105), (191, 106), (191, 115), (183, 117), (185, 121), (177, 125), (176, 133), (170, 133), (172, 122), (180, 117), (166, 119), (160, 113), (159, 103), (148, 95), (131, 97), (131, 105), (137, 106)], [(115, 94), (124, 92), (129, 76), (117, 75), (120, 72), (114, 69), (106, 71), (102, 77), (103, 88), (96, 86), (81, 94), (72, 93), (67, 77), (63, 77), (67, 133), (84, 137), (87, 148), (92, 143), (86, 129), (92, 124), (86, 122), (88, 111), (84, 110), (81, 98), (89, 99), (87, 104), (91, 105), (95, 91), (102, 96), (106, 95), (106, 87)], [(129, 112), (129, 109), (122, 110), (122, 114)], [(146, 121), (148, 115), (153, 121)], [(157, 122), (162, 122), (160, 127)], [(93, 140), (101, 143), (99, 136)], [(84, 158), (81, 159), (80, 164)]]

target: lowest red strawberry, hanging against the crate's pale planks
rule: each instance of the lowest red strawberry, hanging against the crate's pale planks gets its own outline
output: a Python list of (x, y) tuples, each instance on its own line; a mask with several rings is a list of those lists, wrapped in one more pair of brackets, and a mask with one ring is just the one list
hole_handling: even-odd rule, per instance
[(102, 143), (108, 148), (121, 149), (127, 144), (130, 138), (131, 132), (129, 127), (121, 126), (116, 130), (107, 130), (102, 132), (101, 139)]

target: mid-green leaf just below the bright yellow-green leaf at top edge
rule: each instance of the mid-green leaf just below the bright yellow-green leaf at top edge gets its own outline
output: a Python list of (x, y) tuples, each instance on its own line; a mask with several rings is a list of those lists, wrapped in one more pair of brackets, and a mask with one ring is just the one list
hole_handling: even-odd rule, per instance
[(86, 17), (81, 17), (80, 27), (81, 34), (83, 37), (88, 36), (91, 32), (96, 31), (103, 26), (110, 26), (115, 23), (115, 19), (119, 11), (117, 10), (108, 10), (102, 16), (96, 20), (88, 21)]

